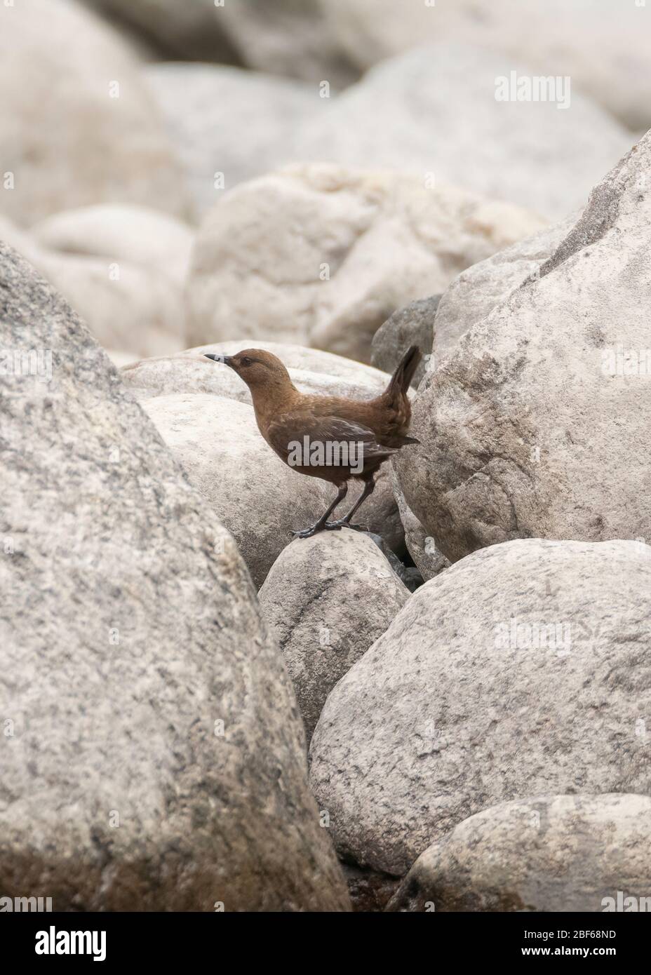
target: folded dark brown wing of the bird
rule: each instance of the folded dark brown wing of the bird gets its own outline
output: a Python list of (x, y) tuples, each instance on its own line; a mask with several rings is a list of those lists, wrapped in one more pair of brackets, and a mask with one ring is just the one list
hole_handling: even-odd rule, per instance
[[(397, 452), (396, 448), (378, 444), (373, 431), (363, 424), (334, 415), (315, 416), (309, 412), (281, 414), (269, 425), (267, 435), (271, 446), (286, 457), (297, 446), (305, 453), (306, 447), (309, 450), (320, 444), (355, 445), (357, 455), (364, 457), (364, 463), (384, 460)], [(305, 443), (305, 437), (309, 446)]]

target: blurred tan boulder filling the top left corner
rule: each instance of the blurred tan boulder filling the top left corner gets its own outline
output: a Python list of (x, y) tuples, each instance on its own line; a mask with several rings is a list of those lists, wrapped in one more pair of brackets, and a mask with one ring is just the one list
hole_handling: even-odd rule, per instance
[(0, 91), (5, 214), (28, 225), (109, 202), (184, 214), (153, 99), (128, 48), (92, 14), (63, 0), (0, 4)]

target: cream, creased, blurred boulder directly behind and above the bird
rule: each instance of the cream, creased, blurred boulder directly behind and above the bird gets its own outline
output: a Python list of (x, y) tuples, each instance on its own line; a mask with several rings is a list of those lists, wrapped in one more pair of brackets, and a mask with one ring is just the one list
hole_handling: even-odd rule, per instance
[(428, 189), (424, 176), (314, 165), (253, 179), (199, 230), (190, 338), (260, 337), (368, 362), (397, 308), (542, 225), (509, 204)]

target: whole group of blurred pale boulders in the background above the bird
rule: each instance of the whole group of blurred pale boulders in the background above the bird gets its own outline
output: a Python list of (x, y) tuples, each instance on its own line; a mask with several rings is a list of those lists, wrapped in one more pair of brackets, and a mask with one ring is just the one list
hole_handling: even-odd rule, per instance
[[(0, 237), (118, 362), (240, 336), (369, 362), (585, 205), (649, 124), (650, 55), (633, 0), (3, 4)], [(511, 70), (569, 106), (497, 101)]]

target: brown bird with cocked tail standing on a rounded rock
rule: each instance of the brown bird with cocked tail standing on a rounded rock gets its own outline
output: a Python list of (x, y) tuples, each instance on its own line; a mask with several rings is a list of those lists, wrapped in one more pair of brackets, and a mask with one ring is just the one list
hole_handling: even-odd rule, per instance
[[(235, 356), (205, 353), (208, 359), (224, 363), (249, 386), (255, 419), (267, 444), (281, 460), (313, 478), (337, 486), (337, 495), (322, 517), (299, 538), (325, 528), (351, 527), (351, 518), (375, 487), (374, 476), (381, 463), (407, 444), (411, 406), (407, 390), (420, 360), (412, 345), (404, 353), (389, 385), (373, 400), (348, 400), (335, 396), (304, 396), (296, 389), (283, 363), (263, 349), (244, 349)], [(346, 497), (351, 478), (364, 481), (364, 490), (344, 518), (327, 519)]]

